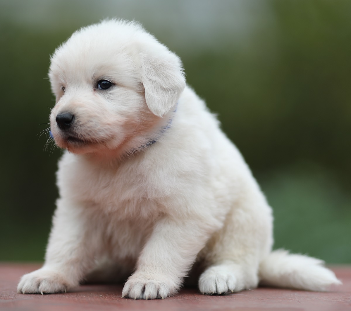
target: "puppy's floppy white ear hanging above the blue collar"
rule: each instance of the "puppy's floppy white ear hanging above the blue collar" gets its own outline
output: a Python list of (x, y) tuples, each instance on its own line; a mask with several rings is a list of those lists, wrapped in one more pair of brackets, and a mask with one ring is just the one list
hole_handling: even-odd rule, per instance
[(168, 50), (159, 52), (141, 55), (141, 75), (146, 104), (162, 118), (177, 103), (185, 88), (185, 77), (177, 55)]

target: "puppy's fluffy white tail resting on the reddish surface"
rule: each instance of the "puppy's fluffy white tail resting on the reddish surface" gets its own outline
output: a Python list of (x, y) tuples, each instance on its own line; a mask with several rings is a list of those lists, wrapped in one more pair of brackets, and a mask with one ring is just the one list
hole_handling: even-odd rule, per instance
[(323, 260), (278, 249), (261, 262), (260, 284), (308, 291), (327, 291), (332, 284), (342, 284), (323, 265)]

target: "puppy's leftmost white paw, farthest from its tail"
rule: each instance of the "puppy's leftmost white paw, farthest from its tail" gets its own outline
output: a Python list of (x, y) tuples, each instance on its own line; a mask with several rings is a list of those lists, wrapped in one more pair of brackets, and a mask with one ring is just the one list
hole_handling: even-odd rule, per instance
[(23, 275), (17, 292), (24, 294), (53, 294), (67, 292), (71, 284), (59, 272), (41, 268)]

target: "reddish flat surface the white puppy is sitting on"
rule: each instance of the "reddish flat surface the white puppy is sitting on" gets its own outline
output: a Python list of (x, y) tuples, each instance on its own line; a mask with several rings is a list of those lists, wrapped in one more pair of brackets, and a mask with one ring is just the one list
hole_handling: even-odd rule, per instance
[(0, 310), (351, 310), (351, 267), (333, 270), (343, 285), (331, 292), (304, 292), (257, 288), (228, 296), (204, 296), (195, 289), (182, 289), (164, 300), (121, 298), (121, 285), (82, 285), (66, 294), (17, 294), (19, 278), (39, 265), (0, 264)]

